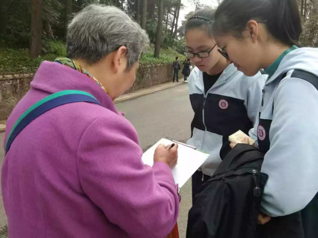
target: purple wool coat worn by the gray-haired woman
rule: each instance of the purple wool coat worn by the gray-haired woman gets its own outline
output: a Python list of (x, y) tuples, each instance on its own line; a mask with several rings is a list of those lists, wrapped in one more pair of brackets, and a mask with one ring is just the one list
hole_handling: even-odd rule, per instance
[(2, 167), (10, 238), (163, 238), (176, 223), (179, 199), (168, 165), (144, 165), (134, 127), (97, 83), (43, 62), (14, 108), (19, 116), (52, 93), (86, 91), (103, 105), (51, 109), (16, 137)]

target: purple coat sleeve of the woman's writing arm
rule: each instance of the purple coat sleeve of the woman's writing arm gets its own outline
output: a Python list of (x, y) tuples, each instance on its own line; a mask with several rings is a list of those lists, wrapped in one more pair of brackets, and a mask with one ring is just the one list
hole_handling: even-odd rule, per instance
[(86, 195), (130, 237), (169, 234), (179, 198), (169, 166), (144, 165), (133, 126), (113, 115), (96, 119), (79, 142), (77, 169)]

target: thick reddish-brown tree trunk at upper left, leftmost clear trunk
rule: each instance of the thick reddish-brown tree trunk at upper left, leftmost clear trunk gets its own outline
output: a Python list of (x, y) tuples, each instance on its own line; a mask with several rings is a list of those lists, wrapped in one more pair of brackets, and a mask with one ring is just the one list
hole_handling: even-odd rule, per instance
[(41, 54), (42, 44), (42, 0), (31, 0), (31, 37), (30, 58), (35, 59)]

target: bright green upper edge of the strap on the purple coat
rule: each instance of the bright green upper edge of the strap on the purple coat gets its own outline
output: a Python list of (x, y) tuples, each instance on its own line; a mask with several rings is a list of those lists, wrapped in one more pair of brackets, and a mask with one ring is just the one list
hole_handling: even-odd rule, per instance
[(33, 111), (34, 109), (36, 109), (38, 106), (40, 106), (41, 104), (45, 103), (45, 102), (48, 102), (54, 98), (57, 98), (57, 97), (60, 97), (60, 96), (64, 96), (64, 95), (68, 95), (68, 94), (82, 94), (82, 95), (87, 95), (87, 96), (90, 96), (92, 98), (94, 98), (95, 100), (97, 100), (93, 95), (87, 93), (87, 92), (84, 92), (84, 91), (79, 91), (79, 90), (64, 90), (64, 91), (59, 91), (59, 92), (56, 92), (56, 93), (53, 93), (43, 99), (41, 99), (40, 101), (36, 102), (35, 104), (33, 104), (29, 109), (27, 109), (20, 117), (19, 119), (17, 120), (17, 122), (14, 124), (14, 126), (12, 127), (8, 137), (7, 137), (7, 140), (6, 140), (6, 143), (8, 143), (8, 140), (12, 134), (12, 132), (14, 131), (14, 129), (17, 127), (17, 125), (22, 121), (22, 119), (27, 116), (31, 111)]

